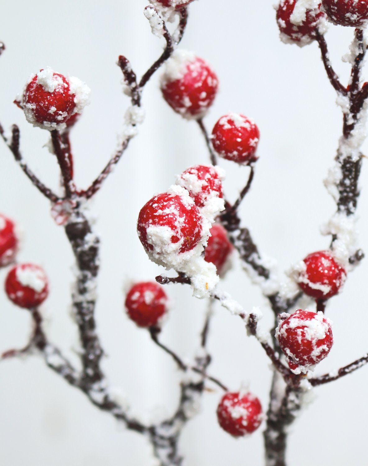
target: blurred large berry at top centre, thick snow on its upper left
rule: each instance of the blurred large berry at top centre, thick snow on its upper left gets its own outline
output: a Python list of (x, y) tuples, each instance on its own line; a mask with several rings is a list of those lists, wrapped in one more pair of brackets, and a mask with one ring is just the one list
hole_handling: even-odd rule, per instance
[(215, 99), (218, 81), (208, 64), (191, 52), (176, 50), (161, 77), (162, 95), (185, 118), (201, 118)]

